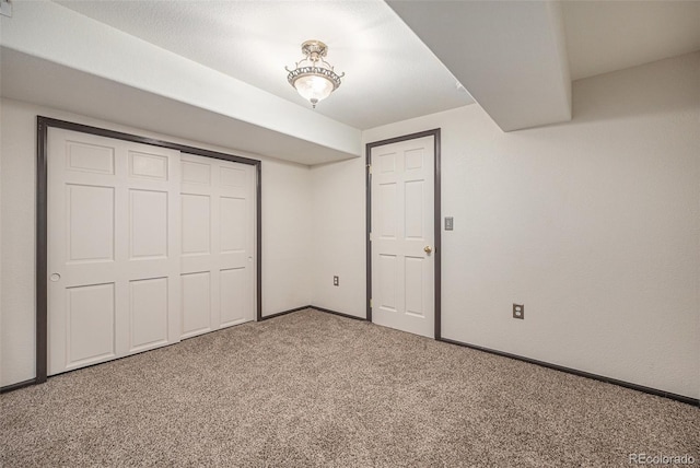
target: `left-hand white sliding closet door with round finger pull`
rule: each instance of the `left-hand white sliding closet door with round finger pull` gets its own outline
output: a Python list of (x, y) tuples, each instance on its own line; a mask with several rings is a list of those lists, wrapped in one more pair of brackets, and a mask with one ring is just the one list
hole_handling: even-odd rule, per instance
[(48, 132), (49, 375), (179, 340), (179, 152)]

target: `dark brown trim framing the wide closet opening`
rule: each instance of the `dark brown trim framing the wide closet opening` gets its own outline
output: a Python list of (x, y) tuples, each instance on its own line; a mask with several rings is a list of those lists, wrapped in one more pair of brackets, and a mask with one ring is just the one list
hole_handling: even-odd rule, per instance
[(131, 141), (135, 143), (149, 144), (152, 147), (167, 148), (183, 153), (196, 154), (200, 156), (213, 157), (218, 160), (231, 161), (234, 163), (248, 164), (255, 166), (256, 188), (255, 188), (255, 255), (256, 255), (256, 320), (262, 319), (262, 186), (261, 186), (261, 163), (258, 160), (236, 156), (233, 154), (220, 153), (201, 148), (188, 147), (186, 144), (173, 143), (170, 141), (140, 137), (131, 133), (108, 130), (105, 128), (91, 127), (82, 124), (58, 120), (49, 117), (37, 116), (37, 165), (36, 165), (36, 376), (33, 379), (21, 383), (22, 386), (40, 384), (47, 378), (48, 364), (48, 129), (62, 128), (66, 130), (79, 131), (82, 133), (96, 134), (100, 137), (113, 138), (117, 140)]

